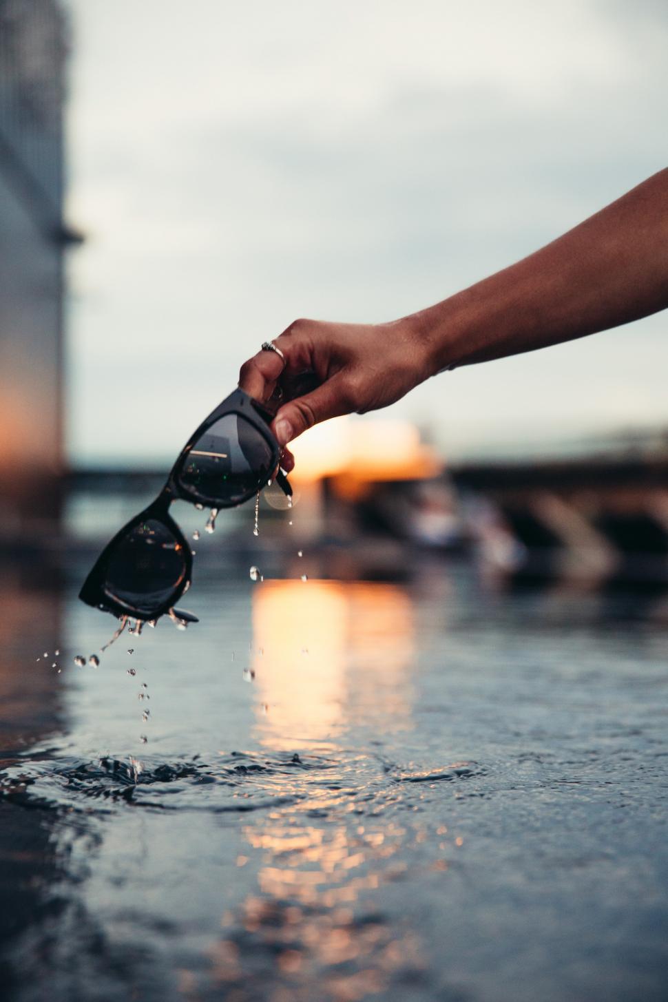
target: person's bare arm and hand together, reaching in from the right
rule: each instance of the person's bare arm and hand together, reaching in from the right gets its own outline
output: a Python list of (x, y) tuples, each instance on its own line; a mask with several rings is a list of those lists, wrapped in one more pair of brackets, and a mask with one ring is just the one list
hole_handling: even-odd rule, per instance
[[(668, 169), (523, 261), (389, 324), (299, 320), (241, 369), (281, 445), (316, 422), (399, 400), (446, 368), (535, 351), (668, 307)], [(305, 372), (316, 384), (302, 393)]]

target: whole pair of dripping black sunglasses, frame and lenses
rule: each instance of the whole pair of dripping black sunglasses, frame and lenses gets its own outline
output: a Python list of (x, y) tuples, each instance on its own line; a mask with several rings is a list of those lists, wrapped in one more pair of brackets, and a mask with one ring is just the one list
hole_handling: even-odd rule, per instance
[(269, 431), (272, 415), (242, 390), (235, 390), (190, 437), (156, 499), (117, 532), (97, 558), (79, 598), (124, 621), (152, 621), (174, 610), (192, 579), (192, 553), (169, 514), (181, 498), (215, 510), (243, 504), (270, 477), (291, 497), (278, 465), (280, 447)]

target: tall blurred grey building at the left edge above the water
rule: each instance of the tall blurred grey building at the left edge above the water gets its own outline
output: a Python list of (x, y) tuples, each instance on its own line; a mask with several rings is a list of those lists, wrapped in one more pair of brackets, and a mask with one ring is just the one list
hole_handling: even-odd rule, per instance
[(63, 466), (62, 221), (67, 25), (0, 0), (0, 535), (53, 519)]

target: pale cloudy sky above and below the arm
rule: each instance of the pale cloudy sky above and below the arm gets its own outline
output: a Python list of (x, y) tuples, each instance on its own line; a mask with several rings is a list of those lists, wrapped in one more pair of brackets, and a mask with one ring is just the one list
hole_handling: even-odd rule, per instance
[[(666, 165), (663, 0), (66, 7), (75, 464), (168, 460), (295, 318), (423, 309)], [(388, 416), (451, 456), (668, 426), (667, 335), (458, 370)]]

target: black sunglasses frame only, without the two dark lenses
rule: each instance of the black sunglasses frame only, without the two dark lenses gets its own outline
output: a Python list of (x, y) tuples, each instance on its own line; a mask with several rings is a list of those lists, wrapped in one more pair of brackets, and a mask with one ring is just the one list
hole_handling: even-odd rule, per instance
[[(287, 497), (292, 496), (292, 488), (287, 481), (287, 477), (281, 471), (279, 466), (280, 446), (269, 430), (269, 424), (273, 420), (273, 415), (269, 411), (265, 410), (261, 404), (258, 404), (256, 400), (253, 400), (252, 397), (249, 397), (246, 393), (244, 393), (243, 390), (237, 388), (230, 393), (230, 395), (226, 397), (222, 403), (218, 404), (215, 410), (211, 411), (208, 417), (205, 418), (199, 427), (192, 433), (185, 446), (181, 449), (176, 462), (169, 471), (169, 476), (167, 477), (164, 487), (155, 500), (140, 511), (139, 514), (131, 518), (129, 522), (126, 522), (122, 529), (120, 529), (104, 547), (81, 587), (79, 598), (82, 602), (85, 602), (86, 605), (91, 605), (93, 608), (101, 609), (104, 612), (111, 612), (118, 618), (130, 617), (132, 619), (147, 621), (158, 619), (160, 616), (164, 615), (165, 612), (168, 612), (171, 608), (173, 608), (175, 602), (177, 602), (183, 593), (187, 591), (192, 581), (192, 552), (181, 529), (169, 514), (169, 506), (172, 501), (180, 499), (182, 501), (189, 501), (190, 504), (200, 504), (202, 507), (216, 508), (218, 510), (221, 508), (236, 508), (238, 505), (244, 504), (251, 497), (254, 497), (254, 495), (257, 494), (257, 491), (261, 490), (261, 488), (265, 486), (265, 483), (258, 482), (255, 487), (249, 488), (245, 494), (241, 496), (240, 500), (230, 502), (229, 504), (218, 502), (217, 504), (212, 505), (210, 498), (202, 497), (191, 490), (186, 491), (179, 484), (178, 472), (195, 442), (198, 442), (201, 436), (208, 431), (208, 429), (214, 425), (216, 421), (219, 421), (220, 418), (226, 417), (229, 414), (235, 414), (238, 417), (244, 418), (244, 420), (247, 421), (248, 424), (250, 424), (255, 431), (262, 436), (266, 444), (271, 449), (270, 469), (275, 470), (274, 479)], [(109, 558), (111, 557), (114, 548), (129, 532), (132, 531), (132, 529), (135, 528), (135, 526), (148, 519), (160, 522), (172, 534), (175, 541), (182, 547), (183, 558), (185, 561), (185, 572), (182, 581), (177, 585), (175, 591), (167, 601), (163, 602), (162, 605), (153, 609), (151, 612), (144, 612), (141, 609), (137, 609), (125, 602), (112, 598), (105, 591), (104, 582), (106, 580)]]

